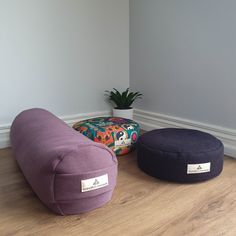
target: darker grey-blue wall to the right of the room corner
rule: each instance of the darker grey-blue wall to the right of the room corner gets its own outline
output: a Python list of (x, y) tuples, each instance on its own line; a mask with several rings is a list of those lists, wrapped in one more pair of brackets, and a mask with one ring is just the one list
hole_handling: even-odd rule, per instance
[(136, 107), (235, 129), (235, 9), (235, 0), (131, 0)]

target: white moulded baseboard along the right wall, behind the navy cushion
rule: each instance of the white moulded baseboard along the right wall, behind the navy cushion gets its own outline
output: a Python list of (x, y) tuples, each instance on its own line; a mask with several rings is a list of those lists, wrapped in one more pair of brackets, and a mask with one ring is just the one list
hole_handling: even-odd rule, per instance
[(135, 109), (134, 119), (141, 125), (143, 130), (159, 128), (187, 128), (197, 129), (210, 133), (219, 138), (225, 147), (225, 155), (236, 158), (236, 130), (211, 124), (200, 123), (193, 120)]

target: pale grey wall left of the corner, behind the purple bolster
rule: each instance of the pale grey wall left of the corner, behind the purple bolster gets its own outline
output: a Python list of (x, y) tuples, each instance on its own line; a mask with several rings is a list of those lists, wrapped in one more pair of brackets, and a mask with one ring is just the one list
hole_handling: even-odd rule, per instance
[(104, 90), (128, 85), (128, 0), (0, 0), (0, 126), (107, 110)]

